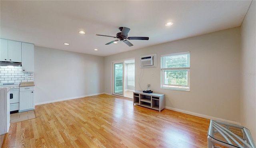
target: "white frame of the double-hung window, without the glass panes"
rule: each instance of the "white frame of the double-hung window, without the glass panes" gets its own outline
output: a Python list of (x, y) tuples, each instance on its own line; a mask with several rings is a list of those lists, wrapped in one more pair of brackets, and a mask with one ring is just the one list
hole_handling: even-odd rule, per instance
[[(166, 67), (164, 65), (164, 57), (174, 56), (174, 55), (189, 55), (189, 67), (174, 67), (174, 68), (163, 68)], [(175, 85), (175, 84), (165, 84), (165, 72), (166, 71), (187, 71), (187, 85)], [(190, 51), (171, 53), (166, 55), (161, 55), (161, 89), (171, 89), (178, 91), (190, 91)]]

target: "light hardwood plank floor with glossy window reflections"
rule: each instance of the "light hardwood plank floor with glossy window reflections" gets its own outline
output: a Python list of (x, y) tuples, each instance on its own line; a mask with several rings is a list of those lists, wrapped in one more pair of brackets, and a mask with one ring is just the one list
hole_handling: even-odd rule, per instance
[(37, 105), (36, 118), (12, 123), (3, 147), (206, 148), (210, 120), (96, 95)]

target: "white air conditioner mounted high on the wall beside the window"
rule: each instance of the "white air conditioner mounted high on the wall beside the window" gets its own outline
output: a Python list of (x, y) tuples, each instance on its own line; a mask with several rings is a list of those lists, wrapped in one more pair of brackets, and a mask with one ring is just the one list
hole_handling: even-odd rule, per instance
[(141, 68), (156, 67), (156, 54), (141, 56), (140, 67)]

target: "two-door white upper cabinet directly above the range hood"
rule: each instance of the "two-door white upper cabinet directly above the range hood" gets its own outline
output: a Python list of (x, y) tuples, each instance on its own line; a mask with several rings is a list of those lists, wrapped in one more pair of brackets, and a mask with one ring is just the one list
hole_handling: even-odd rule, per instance
[(21, 62), (21, 42), (1, 39), (0, 61)]

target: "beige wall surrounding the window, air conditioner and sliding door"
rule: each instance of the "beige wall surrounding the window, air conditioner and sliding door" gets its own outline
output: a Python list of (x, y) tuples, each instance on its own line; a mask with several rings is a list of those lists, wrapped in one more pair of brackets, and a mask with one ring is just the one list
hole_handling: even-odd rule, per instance
[[(160, 89), (160, 55), (190, 51), (190, 92)], [(140, 69), (140, 56), (157, 53), (157, 67)], [(111, 62), (135, 57), (135, 89), (166, 95), (166, 108), (239, 122), (240, 28), (222, 30), (105, 57), (105, 92), (111, 92)], [(152, 77), (154, 73), (154, 77)]]

